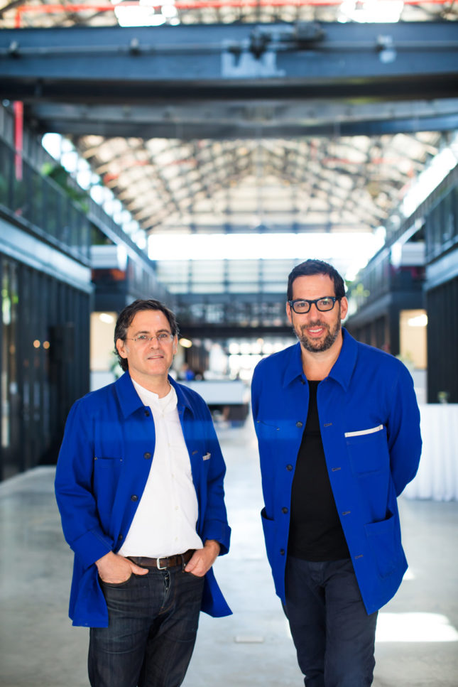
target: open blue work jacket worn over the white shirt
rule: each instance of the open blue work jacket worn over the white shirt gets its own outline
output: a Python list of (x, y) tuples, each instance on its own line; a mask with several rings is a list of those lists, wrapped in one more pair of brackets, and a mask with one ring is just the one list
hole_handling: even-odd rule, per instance
[[(199, 515), (197, 534), (229, 550), (224, 506), (226, 467), (205, 401), (169, 377), (178, 397), (178, 416), (190, 455)], [(153, 460), (154, 421), (129, 372), (92, 391), (72, 406), (55, 476), (62, 529), (75, 552), (70, 618), (74, 625), (107, 627), (108, 612), (95, 561), (119, 551), (140, 503)], [(204, 460), (205, 456), (205, 460)], [(209, 456), (209, 458), (208, 458)], [(202, 610), (214, 617), (231, 610), (210, 569)]]

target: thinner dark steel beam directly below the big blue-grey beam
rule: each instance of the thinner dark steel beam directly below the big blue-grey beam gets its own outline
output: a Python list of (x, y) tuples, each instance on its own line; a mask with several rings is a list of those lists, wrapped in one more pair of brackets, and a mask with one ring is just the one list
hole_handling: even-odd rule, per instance
[(419, 102), (170, 102), (164, 105), (34, 103), (26, 113), (58, 134), (144, 138), (252, 139), (376, 136), (458, 129), (458, 98)]

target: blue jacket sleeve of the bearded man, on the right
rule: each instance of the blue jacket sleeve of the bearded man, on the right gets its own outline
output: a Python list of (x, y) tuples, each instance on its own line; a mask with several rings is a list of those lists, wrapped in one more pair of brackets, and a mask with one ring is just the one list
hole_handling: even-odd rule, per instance
[(388, 418), (388, 450), (397, 496), (415, 477), (421, 447), (420, 411), (413, 389), (413, 379), (408, 369), (401, 364), (400, 372), (393, 384)]

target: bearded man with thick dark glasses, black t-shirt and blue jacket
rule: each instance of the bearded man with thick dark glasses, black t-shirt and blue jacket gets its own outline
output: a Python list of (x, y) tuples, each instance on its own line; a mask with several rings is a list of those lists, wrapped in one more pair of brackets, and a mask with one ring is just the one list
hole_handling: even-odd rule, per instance
[(253, 374), (267, 555), (307, 687), (372, 683), (377, 612), (407, 568), (396, 499), (421, 452), (408, 370), (342, 329), (347, 310), (331, 265), (296, 266), (298, 344)]

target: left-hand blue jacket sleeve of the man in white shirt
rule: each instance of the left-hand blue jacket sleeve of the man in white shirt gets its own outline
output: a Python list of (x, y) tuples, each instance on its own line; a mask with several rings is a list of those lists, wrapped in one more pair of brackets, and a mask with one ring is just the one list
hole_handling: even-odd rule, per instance
[(93, 419), (84, 410), (84, 399), (70, 410), (60, 447), (55, 475), (58, 502), (65, 541), (88, 568), (113, 548), (97, 516), (92, 494), (94, 442)]

